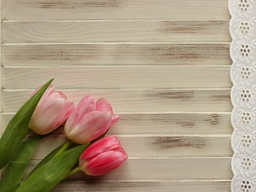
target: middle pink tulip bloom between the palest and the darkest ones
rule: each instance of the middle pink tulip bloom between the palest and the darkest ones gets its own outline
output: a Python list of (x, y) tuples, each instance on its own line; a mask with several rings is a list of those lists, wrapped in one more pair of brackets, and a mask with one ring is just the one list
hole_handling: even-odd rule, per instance
[(104, 134), (118, 118), (104, 98), (95, 102), (94, 98), (87, 95), (67, 119), (65, 134), (72, 142), (86, 144)]

